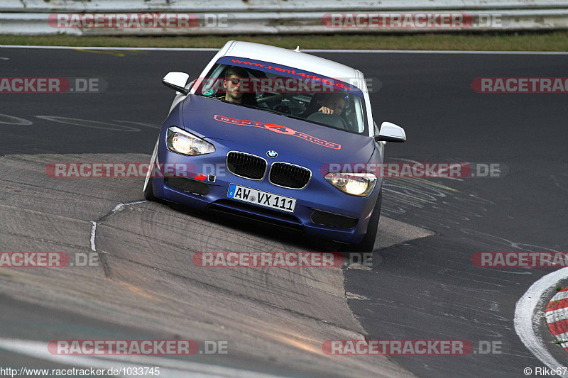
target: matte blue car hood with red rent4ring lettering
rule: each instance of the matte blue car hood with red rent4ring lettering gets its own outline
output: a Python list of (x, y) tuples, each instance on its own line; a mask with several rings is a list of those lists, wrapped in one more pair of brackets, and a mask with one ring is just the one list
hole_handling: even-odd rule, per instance
[(255, 150), (324, 162), (368, 162), (373, 154), (373, 138), (203, 96), (190, 94), (180, 111), (186, 130), (201, 138), (224, 140), (235, 149), (254, 145)]

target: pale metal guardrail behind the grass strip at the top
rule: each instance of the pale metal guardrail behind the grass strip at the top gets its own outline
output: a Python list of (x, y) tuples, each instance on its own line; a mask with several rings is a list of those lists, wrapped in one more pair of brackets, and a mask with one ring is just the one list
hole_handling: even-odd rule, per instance
[[(330, 27), (330, 13), (462, 13), (463, 28)], [(195, 23), (168, 28), (58, 28), (55, 13), (191, 13)], [(52, 21), (52, 22), (50, 22)], [(84, 25), (83, 25), (84, 26)], [(158, 25), (159, 26), (159, 25)], [(228, 35), (416, 33), (568, 29), (568, 0), (1, 0), (0, 34)]]

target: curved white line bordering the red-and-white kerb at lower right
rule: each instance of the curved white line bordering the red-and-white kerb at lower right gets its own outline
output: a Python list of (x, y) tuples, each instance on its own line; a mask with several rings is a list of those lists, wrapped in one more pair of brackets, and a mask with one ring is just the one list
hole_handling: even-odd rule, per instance
[[(566, 277), (568, 277), (568, 267), (545, 275), (532, 284), (515, 307), (515, 332), (528, 350), (550, 369), (563, 368), (564, 365), (555, 360), (555, 357), (552, 357), (548, 352), (542, 339), (536, 335), (535, 328), (540, 323), (540, 318), (545, 316), (542, 307), (545, 306), (545, 303), (548, 303), (548, 301), (545, 301), (545, 303), (541, 301), (542, 296)], [(537, 306), (540, 306), (540, 308), (537, 308)]]

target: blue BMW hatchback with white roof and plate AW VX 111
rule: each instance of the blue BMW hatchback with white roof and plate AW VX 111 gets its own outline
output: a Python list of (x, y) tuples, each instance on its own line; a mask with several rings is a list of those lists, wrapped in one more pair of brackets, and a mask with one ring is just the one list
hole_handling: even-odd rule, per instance
[(260, 219), (370, 251), (381, 213), (386, 142), (363, 74), (337, 62), (230, 41), (177, 91), (144, 183), (146, 199)]

